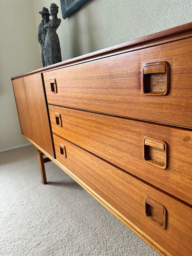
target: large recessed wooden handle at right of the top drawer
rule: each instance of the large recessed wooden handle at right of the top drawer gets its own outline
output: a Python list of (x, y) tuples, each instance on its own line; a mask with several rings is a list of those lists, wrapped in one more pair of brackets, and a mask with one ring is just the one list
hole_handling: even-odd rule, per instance
[(169, 63), (166, 61), (147, 63), (143, 67), (143, 93), (165, 96), (169, 92)]

